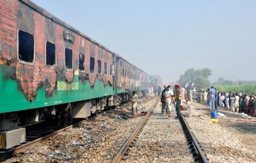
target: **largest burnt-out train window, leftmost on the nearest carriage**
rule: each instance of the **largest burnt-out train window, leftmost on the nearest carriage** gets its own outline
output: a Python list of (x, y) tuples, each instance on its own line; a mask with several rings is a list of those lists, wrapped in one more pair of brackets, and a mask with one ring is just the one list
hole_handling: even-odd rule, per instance
[(34, 61), (34, 36), (19, 30), (19, 59), (21, 61)]

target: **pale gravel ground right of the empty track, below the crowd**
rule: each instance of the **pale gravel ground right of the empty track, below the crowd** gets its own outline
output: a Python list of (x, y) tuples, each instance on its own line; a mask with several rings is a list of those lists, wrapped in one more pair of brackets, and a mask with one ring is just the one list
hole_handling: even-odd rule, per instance
[[(209, 162), (256, 162), (256, 150), (251, 148), (253, 144), (256, 146), (255, 118), (243, 118), (220, 109), (218, 112), (227, 117), (219, 116), (219, 123), (213, 123), (211, 110), (206, 109), (206, 105), (193, 105), (195, 109), (186, 121), (205, 150)], [(254, 125), (254, 128), (248, 128), (248, 124)]]

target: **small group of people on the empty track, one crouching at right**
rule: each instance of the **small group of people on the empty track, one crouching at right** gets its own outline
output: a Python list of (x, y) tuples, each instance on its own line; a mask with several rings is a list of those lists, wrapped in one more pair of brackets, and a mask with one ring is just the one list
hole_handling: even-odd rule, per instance
[[(186, 105), (183, 106), (185, 109), (189, 109), (190, 107), (189, 100), (190, 100), (189, 98), (186, 99)], [(177, 113), (176, 119), (180, 118), (181, 117), (181, 113), (180, 113), (181, 101), (182, 101), (182, 89), (180, 89), (180, 85), (175, 84), (173, 88), (170, 85), (168, 86), (167, 84), (164, 84), (164, 89), (161, 94), (162, 114), (166, 112), (166, 114), (170, 117), (171, 116), (170, 112), (173, 110), (172, 108), (175, 107), (175, 110)], [(189, 116), (189, 112), (188, 112), (188, 116)]]

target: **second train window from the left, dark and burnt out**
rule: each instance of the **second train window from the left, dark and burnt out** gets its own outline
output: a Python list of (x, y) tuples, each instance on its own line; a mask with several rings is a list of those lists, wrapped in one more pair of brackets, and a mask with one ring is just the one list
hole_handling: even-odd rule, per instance
[(54, 43), (46, 42), (46, 66), (56, 67), (56, 47)]

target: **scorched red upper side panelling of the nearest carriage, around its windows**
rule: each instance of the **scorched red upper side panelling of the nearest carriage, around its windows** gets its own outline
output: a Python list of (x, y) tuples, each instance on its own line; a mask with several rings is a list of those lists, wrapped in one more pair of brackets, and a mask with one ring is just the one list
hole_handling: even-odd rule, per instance
[[(113, 84), (113, 77), (110, 74), (110, 65), (113, 61), (113, 54), (106, 49), (95, 45), (92, 40), (81, 36), (61, 23), (45, 17), (33, 8), (29, 8), (29, 1), (0, 0), (0, 64), (13, 66), (13, 72), (4, 73), (10, 79), (19, 84), (20, 90), (30, 101), (36, 97), (36, 91), (44, 87), (47, 97), (52, 95), (56, 89), (58, 79), (66, 80), (68, 83), (74, 81), (74, 75), (79, 75), (81, 82), (86, 80), (92, 86), (95, 80), (104, 81), (104, 85)], [(33, 4), (33, 3), (32, 3)], [(42, 10), (42, 8), (37, 8)], [(46, 12), (44, 12), (46, 13)], [(49, 13), (47, 13), (49, 14)], [(17, 57), (17, 33), (19, 30), (26, 31), (33, 35), (35, 41), (35, 56), (33, 63), (18, 61)], [(68, 33), (65, 37), (64, 34)], [(56, 68), (48, 68), (45, 65), (45, 43), (51, 42), (56, 45)], [(73, 68), (65, 68), (65, 52), (67, 47), (72, 50)], [(100, 55), (99, 55), (100, 52)], [(85, 70), (78, 71), (79, 53), (85, 56)], [(90, 74), (90, 56), (95, 58), (95, 70)], [(101, 59), (102, 73), (97, 74), (97, 60)], [(104, 62), (107, 63), (108, 75), (104, 75)]]

